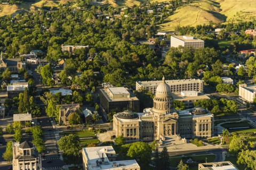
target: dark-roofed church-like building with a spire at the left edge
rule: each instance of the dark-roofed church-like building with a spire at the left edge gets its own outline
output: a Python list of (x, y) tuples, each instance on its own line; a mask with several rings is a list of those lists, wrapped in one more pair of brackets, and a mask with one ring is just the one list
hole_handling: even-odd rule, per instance
[(3, 53), (1, 53), (0, 58), (0, 71), (3, 72), (7, 68), (10, 71), (18, 72), (21, 68), (26, 69), (26, 63), (22, 62), (20, 58), (3, 58)]

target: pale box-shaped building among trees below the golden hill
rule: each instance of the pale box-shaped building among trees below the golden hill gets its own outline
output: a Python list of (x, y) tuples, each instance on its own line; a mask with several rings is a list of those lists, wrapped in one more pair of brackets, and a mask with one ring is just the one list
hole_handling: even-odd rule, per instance
[(193, 36), (171, 36), (171, 47), (204, 48), (204, 40)]

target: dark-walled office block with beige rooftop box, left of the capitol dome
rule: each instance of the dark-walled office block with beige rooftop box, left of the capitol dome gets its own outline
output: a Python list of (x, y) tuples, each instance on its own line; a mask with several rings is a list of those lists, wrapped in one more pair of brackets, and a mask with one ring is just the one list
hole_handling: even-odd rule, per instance
[(109, 113), (112, 109), (124, 111), (131, 109), (134, 112), (139, 112), (140, 100), (124, 87), (111, 87), (100, 89), (100, 106)]

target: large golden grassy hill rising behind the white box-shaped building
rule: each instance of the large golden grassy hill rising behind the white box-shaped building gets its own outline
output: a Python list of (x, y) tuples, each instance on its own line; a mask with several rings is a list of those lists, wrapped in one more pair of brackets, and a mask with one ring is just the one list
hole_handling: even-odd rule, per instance
[(174, 30), (180, 26), (196, 26), (198, 24), (207, 24), (209, 22), (225, 22), (226, 16), (220, 14), (220, 4), (211, 0), (201, 0), (195, 3), (179, 7), (175, 13), (165, 20), (165, 23), (159, 25), (159, 30)]

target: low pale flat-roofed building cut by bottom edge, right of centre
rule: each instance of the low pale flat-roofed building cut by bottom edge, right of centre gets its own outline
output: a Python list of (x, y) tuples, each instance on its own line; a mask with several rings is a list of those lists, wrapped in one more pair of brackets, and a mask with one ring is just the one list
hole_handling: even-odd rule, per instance
[(229, 161), (198, 164), (198, 170), (239, 170)]

